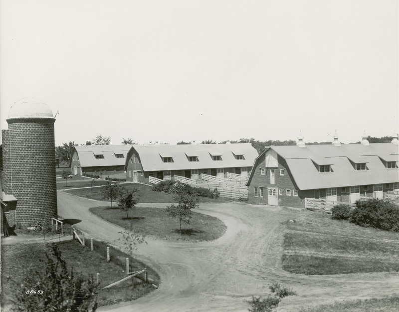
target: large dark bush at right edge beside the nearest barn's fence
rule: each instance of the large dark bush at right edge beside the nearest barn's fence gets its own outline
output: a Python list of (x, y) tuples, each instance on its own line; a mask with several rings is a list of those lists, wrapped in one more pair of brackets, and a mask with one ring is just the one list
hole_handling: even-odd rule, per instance
[(399, 207), (383, 199), (356, 201), (351, 222), (382, 230), (399, 231)]

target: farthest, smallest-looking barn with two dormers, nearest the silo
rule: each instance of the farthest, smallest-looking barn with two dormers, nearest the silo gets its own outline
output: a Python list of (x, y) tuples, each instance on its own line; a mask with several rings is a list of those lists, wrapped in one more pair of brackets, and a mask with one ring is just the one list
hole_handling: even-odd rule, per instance
[(71, 151), (71, 174), (124, 173), (125, 160), (132, 145), (77, 145)]

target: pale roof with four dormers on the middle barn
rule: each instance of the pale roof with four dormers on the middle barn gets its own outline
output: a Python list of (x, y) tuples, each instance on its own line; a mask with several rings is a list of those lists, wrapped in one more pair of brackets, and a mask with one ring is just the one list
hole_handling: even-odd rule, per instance
[[(258, 156), (250, 143), (133, 145), (132, 150), (140, 157), (144, 171), (250, 167)], [(235, 155), (243, 155), (244, 159), (237, 160)], [(198, 161), (189, 161), (190, 156), (197, 156)], [(213, 160), (212, 156), (220, 156), (221, 160)], [(172, 157), (172, 162), (164, 162), (163, 157)]]

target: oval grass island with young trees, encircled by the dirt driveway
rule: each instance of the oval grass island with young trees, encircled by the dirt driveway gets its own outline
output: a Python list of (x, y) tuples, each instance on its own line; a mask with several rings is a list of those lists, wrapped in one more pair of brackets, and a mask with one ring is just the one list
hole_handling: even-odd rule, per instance
[(120, 227), (159, 239), (210, 241), (226, 231), (226, 226), (219, 219), (195, 212), (189, 225), (182, 224), (184, 231), (181, 234), (179, 220), (168, 217), (163, 208), (133, 208), (129, 211), (129, 219), (126, 219), (126, 212), (118, 208), (95, 207), (90, 211)]

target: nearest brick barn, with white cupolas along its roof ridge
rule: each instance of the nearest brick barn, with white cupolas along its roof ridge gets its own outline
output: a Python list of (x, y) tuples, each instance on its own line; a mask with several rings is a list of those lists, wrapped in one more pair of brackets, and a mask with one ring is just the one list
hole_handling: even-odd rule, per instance
[(270, 146), (256, 158), (248, 178), (248, 201), (305, 208), (305, 198), (354, 203), (399, 189), (398, 139), (392, 143)]

